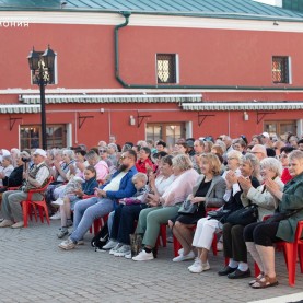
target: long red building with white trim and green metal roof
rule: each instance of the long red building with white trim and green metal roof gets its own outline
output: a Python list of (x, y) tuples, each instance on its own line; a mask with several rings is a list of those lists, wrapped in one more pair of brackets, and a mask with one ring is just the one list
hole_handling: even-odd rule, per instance
[(0, 1), (0, 147), (40, 145), (26, 57), (48, 44), (48, 148), (109, 135), (174, 143), (303, 133), (303, 14), (249, 0), (9, 2)]

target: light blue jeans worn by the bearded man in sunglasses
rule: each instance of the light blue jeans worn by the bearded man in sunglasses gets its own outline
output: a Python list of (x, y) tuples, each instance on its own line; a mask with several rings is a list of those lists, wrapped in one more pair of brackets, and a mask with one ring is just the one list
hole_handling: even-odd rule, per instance
[(82, 240), (94, 220), (109, 213), (114, 208), (114, 203), (115, 201), (108, 198), (97, 197), (78, 201), (74, 206), (73, 232), (70, 238), (73, 242)]

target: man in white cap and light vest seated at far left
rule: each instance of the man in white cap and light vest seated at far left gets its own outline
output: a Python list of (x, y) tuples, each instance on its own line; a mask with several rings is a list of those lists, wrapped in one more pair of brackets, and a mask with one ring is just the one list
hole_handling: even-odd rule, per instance
[[(36, 149), (33, 155), (34, 166), (30, 172), (23, 173), (25, 184), (22, 189), (3, 193), (1, 211), (4, 220), (0, 224), (0, 228), (23, 228), (24, 222), (20, 202), (27, 198), (27, 191), (30, 189), (43, 188), (49, 182), (50, 172), (45, 164), (46, 152), (42, 149)], [(35, 193), (32, 197), (33, 201), (40, 201), (43, 199), (43, 194)]]

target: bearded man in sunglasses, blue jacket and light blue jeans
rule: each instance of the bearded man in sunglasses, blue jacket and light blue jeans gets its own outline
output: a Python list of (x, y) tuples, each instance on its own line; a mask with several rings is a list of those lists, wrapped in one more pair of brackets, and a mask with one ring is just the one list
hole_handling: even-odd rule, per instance
[(102, 218), (114, 209), (117, 200), (132, 197), (136, 188), (131, 182), (136, 170), (136, 152), (132, 150), (124, 152), (120, 158), (118, 172), (106, 184), (96, 188), (96, 197), (78, 201), (74, 206), (73, 232), (70, 237), (59, 244), (66, 250), (73, 249), (79, 241), (91, 228), (95, 219)]

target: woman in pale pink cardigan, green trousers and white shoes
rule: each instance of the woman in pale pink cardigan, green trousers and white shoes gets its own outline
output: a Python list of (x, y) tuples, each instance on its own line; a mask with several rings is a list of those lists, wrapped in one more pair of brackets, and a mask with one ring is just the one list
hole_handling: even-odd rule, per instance
[(136, 261), (151, 260), (154, 258), (155, 243), (160, 231), (160, 225), (167, 223), (171, 218), (178, 214), (182, 202), (193, 193), (199, 174), (193, 168), (193, 163), (188, 155), (178, 154), (173, 158), (173, 171), (175, 180), (164, 191), (162, 196), (156, 193), (149, 194), (151, 208), (140, 212), (136, 233), (144, 234), (142, 243), (144, 249), (132, 259)]

